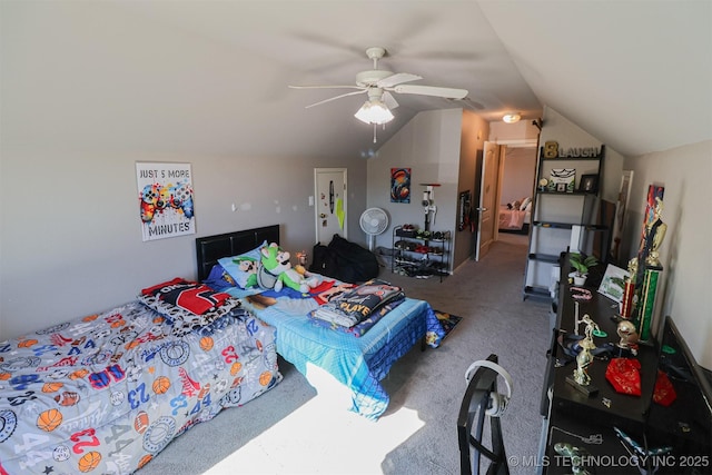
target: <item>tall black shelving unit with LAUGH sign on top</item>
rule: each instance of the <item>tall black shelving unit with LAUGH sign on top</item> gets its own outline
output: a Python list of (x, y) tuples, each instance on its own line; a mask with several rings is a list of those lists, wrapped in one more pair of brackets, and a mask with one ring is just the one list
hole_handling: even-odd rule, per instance
[[(535, 190), (532, 197), (532, 226), (530, 229), (528, 255), (524, 273), (523, 298), (552, 299), (550, 288), (552, 269), (558, 265), (561, 253), (568, 250), (574, 226), (584, 234), (607, 231), (595, 224), (594, 215), (599, 206), (599, 189), (603, 174), (605, 146), (592, 157), (545, 157), (540, 149), (536, 166)], [(548, 179), (553, 168), (575, 168), (573, 189), (557, 191), (551, 182), (541, 186), (542, 178)], [(581, 190), (582, 176), (595, 176), (596, 186)], [(550, 280), (546, 280), (548, 278)]]

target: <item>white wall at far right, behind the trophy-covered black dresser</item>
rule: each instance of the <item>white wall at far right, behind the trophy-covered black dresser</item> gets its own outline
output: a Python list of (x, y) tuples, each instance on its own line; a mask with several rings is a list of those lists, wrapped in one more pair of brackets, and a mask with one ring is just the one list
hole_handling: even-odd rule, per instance
[(698, 363), (712, 369), (712, 140), (627, 158), (624, 168), (633, 170), (633, 185), (621, 251), (636, 255), (647, 187), (664, 186), (657, 316), (671, 315)]

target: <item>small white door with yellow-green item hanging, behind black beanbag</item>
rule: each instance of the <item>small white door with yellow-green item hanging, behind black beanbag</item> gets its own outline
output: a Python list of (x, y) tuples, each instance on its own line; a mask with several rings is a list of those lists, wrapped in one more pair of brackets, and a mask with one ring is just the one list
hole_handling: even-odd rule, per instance
[(315, 168), (316, 243), (328, 245), (334, 235), (348, 239), (346, 168)]

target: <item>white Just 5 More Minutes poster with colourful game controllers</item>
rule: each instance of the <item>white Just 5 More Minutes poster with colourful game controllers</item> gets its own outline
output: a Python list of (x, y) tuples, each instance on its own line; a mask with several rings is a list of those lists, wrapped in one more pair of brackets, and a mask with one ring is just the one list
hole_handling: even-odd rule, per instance
[(190, 164), (136, 162), (144, 241), (196, 232)]

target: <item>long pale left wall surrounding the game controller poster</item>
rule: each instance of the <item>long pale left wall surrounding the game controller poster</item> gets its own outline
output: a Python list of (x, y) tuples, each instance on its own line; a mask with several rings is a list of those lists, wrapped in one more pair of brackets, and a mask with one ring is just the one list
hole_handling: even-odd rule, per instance
[[(191, 164), (196, 235), (141, 241), (137, 160)], [(119, 154), (109, 146), (86, 152), (3, 140), (0, 340), (108, 309), (160, 280), (195, 278), (198, 236), (280, 224), (286, 249), (310, 250), (314, 168), (336, 164), (348, 168), (348, 226), (358, 229), (362, 159)]]

